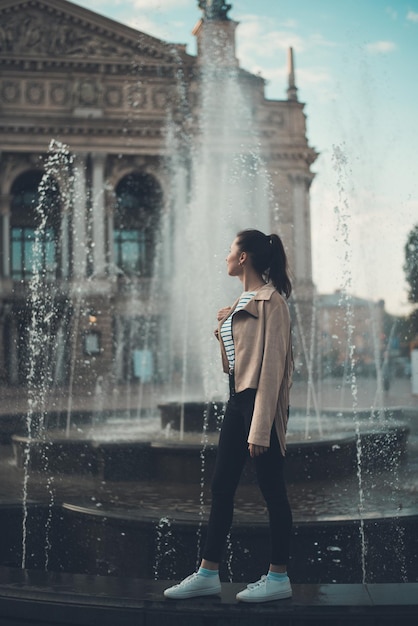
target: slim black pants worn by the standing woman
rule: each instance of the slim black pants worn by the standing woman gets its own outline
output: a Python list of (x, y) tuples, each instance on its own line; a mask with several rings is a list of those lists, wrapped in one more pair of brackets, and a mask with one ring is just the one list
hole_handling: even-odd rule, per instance
[[(203, 558), (219, 563), (232, 524), (234, 495), (248, 457), (248, 433), (254, 410), (255, 389), (231, 396), (219, 437), (218, 455), (212, 480), (212, 508)], [(273, 426), (270, 448), (254, 458), (257, 480), (267, 504), (273, 565), (286, 565), (289, 558), (292, 512), (283, 477), (282, 456)]]

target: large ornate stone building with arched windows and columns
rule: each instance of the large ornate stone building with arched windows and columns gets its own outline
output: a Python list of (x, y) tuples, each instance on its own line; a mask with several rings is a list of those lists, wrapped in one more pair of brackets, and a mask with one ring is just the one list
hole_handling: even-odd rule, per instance
[[(237, 23), (228, 17), (229, 5), (199, 6), (198, 54), (192, 56), (185, 46), (67, 0), (0, 0), (3, 385), (36, 383), (33, 359), (51, 386), (155, 376), (155, 368), (135, 363), (144, 325), (151, 333), (158, 325), (158, 305), (151, 306), (148, 295), (156, 233), (171, 206), (166, 121), (170, 115), (187, 125), (189, 137), (198, 133), (202, 45), (214, 33), (219, 63), (229, 46), (251, 99), (273, 190), (272, 229), (278, 205), (295, 293), (302, 308), (309, 305), (316, 153), (306, 139), (292, 53), (287, 99), (267, 100), (263, 79), (235, 58)], [(133, 288), (139, 308), (132, 305)], [(34, 324), (42, 339), (31, 348)]]

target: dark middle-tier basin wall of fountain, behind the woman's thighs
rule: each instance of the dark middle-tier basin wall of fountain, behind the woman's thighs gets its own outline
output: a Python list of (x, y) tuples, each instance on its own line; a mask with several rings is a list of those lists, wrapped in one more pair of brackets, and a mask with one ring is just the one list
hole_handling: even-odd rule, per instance
[[(359, 437), (340, 433), (307, 441), (291, 438), (286, 454), (287, 480), (324, 480), (353, 474), (359, 442), (364, 469), (394, 468), (406, 457), (408, 433), (407, 426), (397, 424), (384, 429), (363, 428)], [(32, 470), (87, 473), (104, 480), (181, 480), (199, 484), (202, 464), (207, 476), (213, 472), (217, 433), (206, 436), (204, 442), (201, 435), (193, 433), (187, 433), (183, 440), (160, 436), (148, 441), (100, 441), (82, 433), (66, 437), (60, 431), (48, 432), (43, 439), (14, 435), (12, 441), (17, 465), (23, 467), (29, 454)], [(243, 481), (252, 480), (252, 472), (245, 471)]]

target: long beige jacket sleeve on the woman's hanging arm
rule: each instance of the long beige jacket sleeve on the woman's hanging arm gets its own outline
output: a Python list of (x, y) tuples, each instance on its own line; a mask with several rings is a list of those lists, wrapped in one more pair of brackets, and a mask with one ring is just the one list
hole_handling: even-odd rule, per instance
[(281, 298), (265, 304), (263, 359), (248, 443), (269, 447), (273, 422), (280, 411), (279, 396), (284, 393), (288, 397), (288, 389), (282, 389), (282, 384), (288, 384), (285, 370), (290, 350), (290, 314)]

